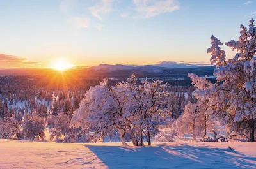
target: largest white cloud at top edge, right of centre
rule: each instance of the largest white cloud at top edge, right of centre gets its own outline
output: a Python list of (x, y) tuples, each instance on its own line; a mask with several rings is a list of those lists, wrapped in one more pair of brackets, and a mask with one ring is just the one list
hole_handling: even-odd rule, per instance
[(138, 13), (134, 18), (150, 18), (179, 10), (179, 0), (133, 0)]

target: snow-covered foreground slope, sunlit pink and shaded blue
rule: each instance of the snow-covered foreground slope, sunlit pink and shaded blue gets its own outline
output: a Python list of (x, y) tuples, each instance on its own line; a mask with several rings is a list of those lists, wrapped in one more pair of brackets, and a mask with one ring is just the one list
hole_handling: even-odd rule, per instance
[(0, 168), (256, 168), (256, 143), (122, 147), (120, 143), (0, 140)]

